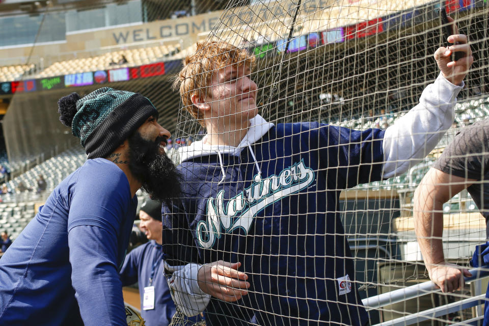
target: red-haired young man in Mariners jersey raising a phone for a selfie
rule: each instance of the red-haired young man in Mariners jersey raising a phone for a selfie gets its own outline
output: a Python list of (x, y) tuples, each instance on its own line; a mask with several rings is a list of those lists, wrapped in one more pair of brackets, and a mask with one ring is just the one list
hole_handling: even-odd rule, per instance
[[(254, 57), (224, 42), (198, 43), (176, 85), (207, 134), (182, 148), (181, 205), (163, 207), (168, 262), (187, 264), (167, 268), (176, 305), (205, 309), (208, 325), (365, 324), (338, 195), (404, 173), (450, 128), (473, 58), (456, 27), (447, 42), (454, 45), (434, 53), (441, 74), (419, 103), (387, 130), (361, 131), (265, 121)], [(454, 52), (464, 57), (453, 62)]]

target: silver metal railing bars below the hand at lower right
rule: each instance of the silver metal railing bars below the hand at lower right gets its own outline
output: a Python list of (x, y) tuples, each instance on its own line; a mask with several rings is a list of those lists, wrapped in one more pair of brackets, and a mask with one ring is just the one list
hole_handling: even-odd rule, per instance
[[(465, 277), (465, 282), (473, 282), (480, 280), (489, 276), (489, 269), (487, 267), (474, 268), (470, 270), (472, 276)], [(406, 288), (390, 291), (388, 293), (383, 293), (368, 297), (362, 300), (363, 305), (367, 311), (376, 310), (382, 308), (386, 305), (391, 305), (399, 303), (402, 301), (409, 300), (411, 298), (419, 297), (425, 294), (437, 293), (440, 289), (431, 281), (423, 282)], [(412, 325), (423, 320), (429, 320), (439, 316), (444, 316), (452, 312), (464, 310), (467, 308), (475, 307), (481, 305), (485, 302), (485, 294), (476, 295), (471, 298), (466, 298), (457, 302), (449, 303), (443, 306), (435, 307), (432, 309), (420, 311), (418, 313), (410, 313), (409, 315), (384, 321), (375, 326), (400, 326), (400, 325)], [(456, 325), (472, 325), (477, 324), (482, 316), (477, 316), (472, 319), (456, 323)]]

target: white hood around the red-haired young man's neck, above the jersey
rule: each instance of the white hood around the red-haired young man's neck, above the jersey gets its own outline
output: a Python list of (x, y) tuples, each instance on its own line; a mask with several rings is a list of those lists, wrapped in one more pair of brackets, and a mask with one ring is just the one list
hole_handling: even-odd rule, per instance
[(237, 156), (244, 147), (260, 140), (272, 127), (274, 127), (273, 123), (267, 122), (257, 114), (253, 119), (250, 119), (250, 128), (238, 146), (207, 145), (205, 144), (207, 135), (204, 135), (204, 138), (201, 141), (193, 142), (190, 146), (180, 148), (180, 162), (213, 154), (231, 154)]

